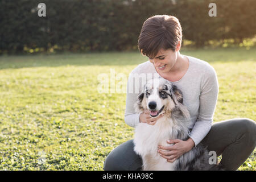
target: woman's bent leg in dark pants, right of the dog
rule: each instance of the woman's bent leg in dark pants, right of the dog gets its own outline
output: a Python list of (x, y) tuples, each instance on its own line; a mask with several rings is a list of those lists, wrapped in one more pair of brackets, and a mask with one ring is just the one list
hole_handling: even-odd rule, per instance
[(220, 163), (225, 169), (236, 170), (255, 148), (256, 123), (245, 118), (214, 123), (201, 143), (217, 156), (222, 155)]

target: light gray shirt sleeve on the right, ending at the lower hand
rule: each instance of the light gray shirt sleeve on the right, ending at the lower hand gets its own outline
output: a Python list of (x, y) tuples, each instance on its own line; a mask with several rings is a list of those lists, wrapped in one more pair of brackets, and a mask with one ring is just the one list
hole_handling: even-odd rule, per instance
[(210, 66), (205, 69), (204, 77), (200, 85), (200, 106), (199, 115), (193, 126), (189, 137), (195, 142), (195, 146), (209, 133), (213, 114), (216, 109), (218, 98), (218, 79), (214, 68)]

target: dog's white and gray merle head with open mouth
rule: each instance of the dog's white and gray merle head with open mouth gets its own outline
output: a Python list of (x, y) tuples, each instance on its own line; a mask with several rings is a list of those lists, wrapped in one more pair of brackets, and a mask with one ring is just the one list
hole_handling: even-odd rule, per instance
[(183, 103), (183, 96), (177, 86), (159, 77), (148, 80), (144, 90), (139, 94), (135, 108), (137, 112), (150, 111), (151, 117), (162, 113), (171, 113)]

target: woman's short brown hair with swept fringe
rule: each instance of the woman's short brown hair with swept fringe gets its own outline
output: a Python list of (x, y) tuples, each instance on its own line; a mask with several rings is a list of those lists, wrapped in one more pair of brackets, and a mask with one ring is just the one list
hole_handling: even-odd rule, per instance
[(143, 23), (138, 48), (143, 55), (154, 58), (160, 49), (175, 51), (177, 43), (181, 40), (182, 30), (175, 16), (155, 15)]

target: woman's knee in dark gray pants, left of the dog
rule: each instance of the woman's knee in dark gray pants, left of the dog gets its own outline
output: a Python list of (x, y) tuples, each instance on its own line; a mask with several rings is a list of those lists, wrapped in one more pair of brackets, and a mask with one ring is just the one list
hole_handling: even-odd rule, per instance
[(142, 167), (142, 159), (134, 150), (133, 140), (117, 146), (107, 156), (104, 163), (105, 171), (135, 171)]

